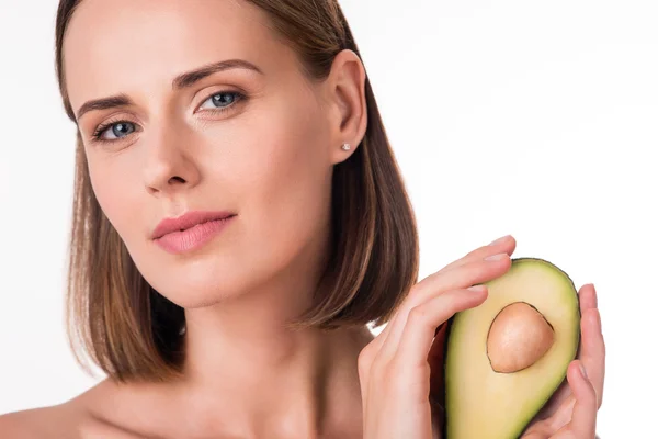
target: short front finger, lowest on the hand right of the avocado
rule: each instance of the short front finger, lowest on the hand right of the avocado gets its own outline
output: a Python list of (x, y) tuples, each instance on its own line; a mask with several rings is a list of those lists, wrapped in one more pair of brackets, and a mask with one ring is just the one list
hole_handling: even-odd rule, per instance
[(569, 364), (567, 378), (576, 397), (574, 413), (568, 429), (577, 438), (593, 438), (597, 430), (597, 393), (589, 379), (580, 372), (581, 361), (575, 360)]

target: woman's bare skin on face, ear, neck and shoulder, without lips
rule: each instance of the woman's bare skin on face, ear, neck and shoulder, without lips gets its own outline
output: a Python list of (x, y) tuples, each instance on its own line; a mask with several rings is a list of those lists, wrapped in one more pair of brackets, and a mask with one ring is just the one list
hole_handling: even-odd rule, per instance
[[(182, 72), (237, 58), (262, 74), (232, 68), (172, 88)], [(0, 429), (27, 438), (361, 437), (358, 356), (370, 330), (282, 325), (309, 303), (328, 252), (333, 166), (365, 133), (359, 57), (343, 50), (329, 78), (311, 82), (247, 2), (84, 0), (64, 68), (101, 207), (145, 279), (185, 308), (185, 376), (104, 381), (63, 405), (3, 416)], [(134, 104), (79, 113), (118, 93)], [(107, 142), (94, 142), (107, 122)], [(237, 216), (193, 252), (169, 254), (150, 239), (161, 219), (194, 210)]]

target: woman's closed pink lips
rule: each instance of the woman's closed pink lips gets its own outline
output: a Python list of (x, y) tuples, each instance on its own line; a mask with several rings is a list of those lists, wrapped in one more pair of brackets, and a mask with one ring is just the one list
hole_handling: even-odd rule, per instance
[(229, 212), (190, 212), (178, 218), (163, 219), (151, 238), (169, 252), (191, 251), (222, 232), (234, 216)]

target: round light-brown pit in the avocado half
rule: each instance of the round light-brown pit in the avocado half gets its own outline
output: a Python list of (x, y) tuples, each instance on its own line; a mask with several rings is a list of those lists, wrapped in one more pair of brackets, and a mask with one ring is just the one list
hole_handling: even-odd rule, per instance
[(496, 372), (518, 372), (537, 362), (553, 346), (553, 326), (525, 302), (506, 306), (494, 319), (487, 356)]

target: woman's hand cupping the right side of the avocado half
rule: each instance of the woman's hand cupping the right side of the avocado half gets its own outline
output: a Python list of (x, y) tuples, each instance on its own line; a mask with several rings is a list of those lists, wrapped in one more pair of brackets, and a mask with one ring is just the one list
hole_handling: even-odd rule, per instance
[[(603, 403), (605, 341), (594, 285), (583, 285), (578, 297), (581, 335), (577, 360), (569, 364), (568, 381), (563, 382), (527, 425), (521, 436), (523, 439), (593, 439), (595, 436), (597, 410)], [(580, 375), (580, 364), (589, 379)]]

